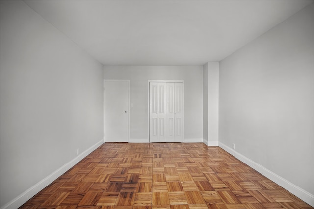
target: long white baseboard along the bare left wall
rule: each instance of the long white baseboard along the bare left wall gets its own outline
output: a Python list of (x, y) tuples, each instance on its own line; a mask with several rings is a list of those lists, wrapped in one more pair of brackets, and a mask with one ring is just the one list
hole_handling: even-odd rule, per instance
[(104, 140), (97, 142), (81, 154), (79, 154), (76, 158), (74, 158), (69, 163), (64, 164), (62, 167), (58, 168), (56, 171), (54, 171), (52, 174), (35, 184), (34, 186), (27, 189), (25, 192), (5, 204), (2, 209), (17, 209), (24, 203), (26, 203), (30, 198), (32, 198), (35, 194), (37, 194), (39, 191), (44, 189), (46, 186), (51, 184), (54, 180), (56, 180), (58, 177), (60, 177), (62, 174), (64, 174), (67, 170), (69, 170), (71, 167), (73, 167), (75, 164), (77, 164), (79, 161), (81, 161), (83, 158), (85, 158), (87, 155), (89, 155), (91, 152), (93, 152), (96, 148), (98, 148), (100, 145), (104, 143)]

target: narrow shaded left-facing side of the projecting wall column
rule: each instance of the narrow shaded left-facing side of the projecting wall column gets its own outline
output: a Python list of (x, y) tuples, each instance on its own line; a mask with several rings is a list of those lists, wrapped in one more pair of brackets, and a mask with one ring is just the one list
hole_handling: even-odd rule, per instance
[(208, 63), (203, 65), (203, 140), (208, 142)]

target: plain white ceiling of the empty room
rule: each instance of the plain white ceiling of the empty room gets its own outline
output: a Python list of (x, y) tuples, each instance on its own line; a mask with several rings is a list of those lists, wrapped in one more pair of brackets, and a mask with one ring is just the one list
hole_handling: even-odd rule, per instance
[(104, 65), (220, 61), (313, 1), (25, 1)]

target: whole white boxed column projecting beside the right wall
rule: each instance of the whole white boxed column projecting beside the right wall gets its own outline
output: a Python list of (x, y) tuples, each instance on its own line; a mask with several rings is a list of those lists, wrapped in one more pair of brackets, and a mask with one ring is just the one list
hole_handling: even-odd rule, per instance
[(209, 146), (218, 146), (219, 63), (203, 66), (203, 138)]

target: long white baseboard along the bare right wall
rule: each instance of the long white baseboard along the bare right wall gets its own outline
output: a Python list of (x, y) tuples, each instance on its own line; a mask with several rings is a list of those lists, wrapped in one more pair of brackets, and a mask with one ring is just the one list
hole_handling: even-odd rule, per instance
[(262, 165), (252, 161), (251, 159), (245, 157), (244, 155), (236, 152), (234, 149), (228, 147), (227, 145), (219, 142), (219, 147), (227, 151), (228, 153), (235, 156), (235, 158), (239, 159), (243, 163), (246, 163), (262, 175), (266, 176), (271, 181), (275, 182), (279, 186), (287, 189), (289, 192), (306, 202), (307, 204), (314, 207), (314, 195), (310, 192), (305, 191), (304, 189), (300, 188), (299, 186), (296, 186), (292, 184), (291, 182), (287, 181), (286, 179), (282, 178), (281, 176), (273, 173), (272, 171), (268, 170), (267, 168), (263, 167)]

